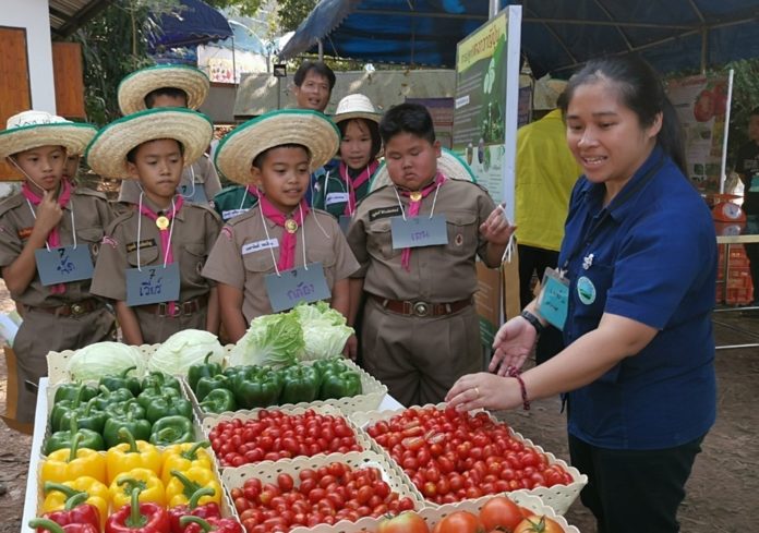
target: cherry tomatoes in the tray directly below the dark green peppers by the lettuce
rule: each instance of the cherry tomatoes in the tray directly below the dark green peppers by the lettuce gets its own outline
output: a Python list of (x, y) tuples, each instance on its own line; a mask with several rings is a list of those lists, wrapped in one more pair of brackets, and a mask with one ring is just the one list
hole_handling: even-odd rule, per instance
[(344, 417), (311, 409), (303, 414), (261, 410), (252, 420), (220, 422), (208, 438), (222, 467), (362, 451)]

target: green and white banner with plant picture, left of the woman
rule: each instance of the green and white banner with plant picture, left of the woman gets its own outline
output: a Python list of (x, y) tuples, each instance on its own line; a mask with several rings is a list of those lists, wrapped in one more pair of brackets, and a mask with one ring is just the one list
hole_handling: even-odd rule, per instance
[(514, 219), (521, 7), (510, 5), (458, 44), (454, 152)]

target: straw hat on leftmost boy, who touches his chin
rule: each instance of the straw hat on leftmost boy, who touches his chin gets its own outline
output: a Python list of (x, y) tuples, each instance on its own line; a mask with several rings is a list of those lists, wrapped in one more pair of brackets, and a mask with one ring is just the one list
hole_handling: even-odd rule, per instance
[(0, 131), (0, 159), (40, 146), (63, 146), (70, 156), (82, 154), (97, 133), (92, 124), (71, 122), (45, 111), (24, 111), (8, 119)]

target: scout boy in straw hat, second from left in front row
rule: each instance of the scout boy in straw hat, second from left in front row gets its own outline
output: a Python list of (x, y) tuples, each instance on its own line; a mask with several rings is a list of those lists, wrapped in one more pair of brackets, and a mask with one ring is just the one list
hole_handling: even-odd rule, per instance
[[(218, 330), (216, 289), (201, 270), (220, 221), (210, 207), (177, 194), (182, 167), (201, 157), (212, 133), (204, 114), (156, 108), (107, 125), (87, 148), (95, 172), (142, 185), (136, 205), (108, 228), (92, 286), (94, 294), (116, 301), (129, 344), (162, 342), (189, 328)], [(129, 286), (135, 277), (140, 282)], [(172, 284), (177, 296), (161, 293)]]

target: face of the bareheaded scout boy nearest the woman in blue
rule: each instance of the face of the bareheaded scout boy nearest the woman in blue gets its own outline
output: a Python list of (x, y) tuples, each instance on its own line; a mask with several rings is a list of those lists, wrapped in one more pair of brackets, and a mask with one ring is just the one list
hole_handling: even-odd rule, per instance
[(398, 186), (418, 191), (437, 173), (441, 143), (399, 133), (385, 144), (385, 162), (390, 180)]

